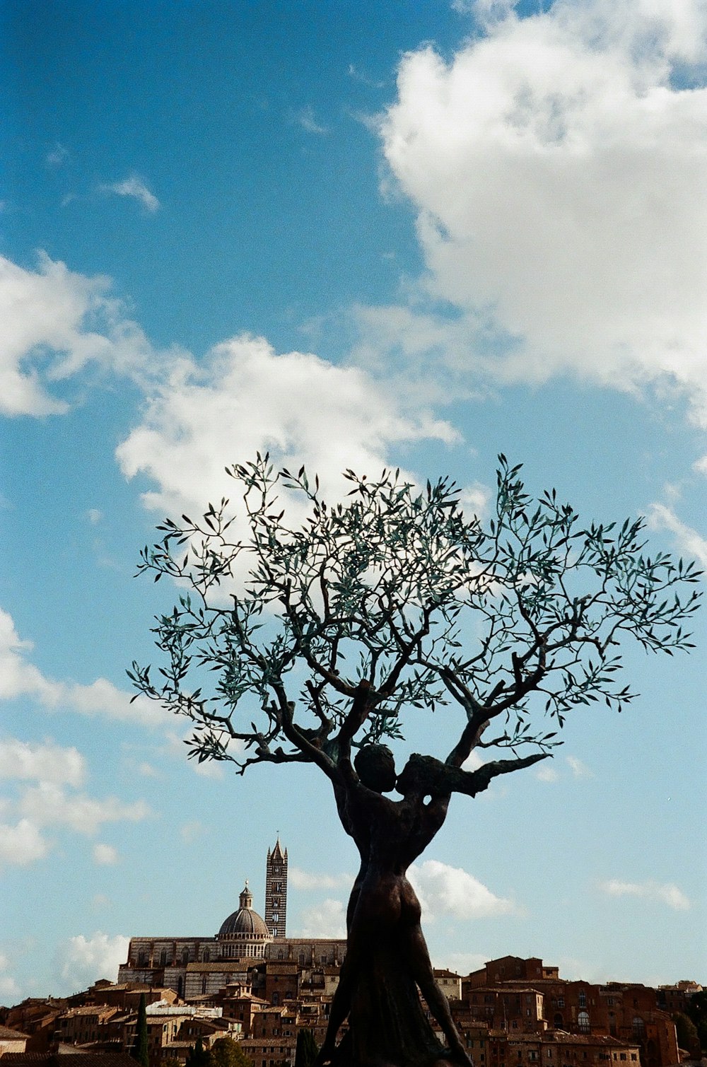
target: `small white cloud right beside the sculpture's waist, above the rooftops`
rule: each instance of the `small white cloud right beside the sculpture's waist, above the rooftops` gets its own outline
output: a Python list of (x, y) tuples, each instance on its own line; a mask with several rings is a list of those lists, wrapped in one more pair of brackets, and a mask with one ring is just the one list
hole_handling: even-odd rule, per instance
[(407, 876), (419, 896), (424, 919), (429, 921), (440, 915), (481, 919), (518, 910), (512, 901), (496, 896), (462, 867), (449, 866), (439, 860), (415, 863)]

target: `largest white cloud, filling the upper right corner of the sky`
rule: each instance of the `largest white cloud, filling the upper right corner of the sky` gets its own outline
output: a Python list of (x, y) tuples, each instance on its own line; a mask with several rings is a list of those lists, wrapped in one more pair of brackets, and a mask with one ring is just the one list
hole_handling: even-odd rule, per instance
[(411, 359), (453, 349), (500, 380), (672, 383), (707, 426), (707, 7), (461, 7), (485, 33), (406, 54), (381, 125), (427, 293), (457, 314), (369, 325), (395, 317)]

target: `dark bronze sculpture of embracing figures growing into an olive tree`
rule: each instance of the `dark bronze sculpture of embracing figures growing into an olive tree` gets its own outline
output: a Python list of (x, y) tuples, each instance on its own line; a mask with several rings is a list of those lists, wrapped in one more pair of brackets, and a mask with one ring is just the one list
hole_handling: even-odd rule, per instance
[[(546, 759), (576, 705), (632, 699), (620, 682), (622, 639), (690, 648), (693, 566), (645, 555), (640, 520), (582, 526), (555, 492), (533, 501), (519, 471), (499, 457), (484, 525), (447, 479), (420, 492), (398, 472), (348, 471), (347, 503), (328, 506), (304, 468), (275, 472), (258, 456), (228, 468), (243, 495), (237, 520), (225, 499), (198, 521), (167, 519), (142, 554), (141, 571), (188, 591), (157, 619), (159, 681), (133, 664), (138, 690), (192, 720), (198, 761), (241, 774), (317, 766), (360, 854), (320, 1064), (469, 1063), (434, 981), (408, 865), (452, 793), (473, 797)], [(300, 524), (286, 519), (283, 489), (300, 497)], [(425, 711), (451, 749), (414, 753), (397, 771), (384, 743)], [(472, 752), (483, 762), (466, 769)]]

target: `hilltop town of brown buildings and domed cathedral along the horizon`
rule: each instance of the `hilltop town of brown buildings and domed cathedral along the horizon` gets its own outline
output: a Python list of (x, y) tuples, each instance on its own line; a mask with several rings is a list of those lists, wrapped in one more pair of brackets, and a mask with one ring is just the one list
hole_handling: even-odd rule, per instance
[[(31, 1034), (36, 1050), (50, 1040), (124, 1051), (146, 992), (150, 1067), (184, 1065), (197, 1037), (208, 1048), (224, 1035), (241, 1042), (254, 1067), (293, 1064), (299, 1030), (324, 1039), (347, 944), (288, 937), (286, 914), (287, 850), (278, 840), (268, 850), (264, 919), (246, 882), (215, 936), (133, 937), (119, 985), (28, 1001), (0, 1022)], [(476, 1067), (677, 1067), (669, 1013), (702, 988), (568, 981), (536, 957), (503, 956), (465, 977), (435, 973)], [(7, 1067), (35, 1065), (18, 1058)]]

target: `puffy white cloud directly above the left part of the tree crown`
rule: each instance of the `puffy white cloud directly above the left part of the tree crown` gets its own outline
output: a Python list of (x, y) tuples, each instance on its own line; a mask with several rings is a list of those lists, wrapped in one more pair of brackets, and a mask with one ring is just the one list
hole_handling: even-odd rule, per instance
[(224, 464), (270, 449), (278, 463), (306, 463), (327, 487), (346, 467), (379, 472), (390, 445), (453, 440), (446, 423), (406, 417), (364, 371), (317, 355), (278, 355), (261, 337), (235, 337), (200, 363), (175, 360), (143, 420), (117, 449), (128, 477), (148, 475), (144, 496), (161, 513), (203, 509), (228, 495)]

